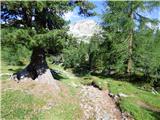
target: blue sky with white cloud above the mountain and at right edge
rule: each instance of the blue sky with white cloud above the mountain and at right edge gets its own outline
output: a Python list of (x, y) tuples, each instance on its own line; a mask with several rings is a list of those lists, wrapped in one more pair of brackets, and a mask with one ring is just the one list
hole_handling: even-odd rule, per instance
[[(71, 24), (74, 24), (80, 20), (94, 20), (97, 23), (102, 22), (101, 15), (104, 13), (105, 2), (103, 0), (97, 0), (97, 1), (89, 0), (89, 1), (93, 2), (96, 5), (96, 8), (94, 10), (99, 14), (99, 16), (94, 16), (94, 17), (79, 16), (78, 7), (76, 7), (72, 12), (66, 13), (64, 18), (66, 20), (70, 20)], [(154, 19), (158, 18), (160, 20), (160, 7), (153, 9), (152, 12), (145, 12), (141, 14), (149, 18), (154, 18)], [(159, 28), (160, 28), (160, 24), (159, 24)]]

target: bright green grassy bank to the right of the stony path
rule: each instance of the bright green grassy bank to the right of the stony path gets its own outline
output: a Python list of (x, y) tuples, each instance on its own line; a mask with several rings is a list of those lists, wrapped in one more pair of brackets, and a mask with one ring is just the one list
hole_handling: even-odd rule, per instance
[[(140, 89), (134, 84), (125, 81), (109, 79), (109, 90), (113, 94), (124, 93), (127, 98), (122, 97), (119, 105), (123, 112), (130, 113), (136, 120), (158, 120), (160, 119), (160, 95), (151, 91)], [(144, 105), (138, 104), (139, 101)]]

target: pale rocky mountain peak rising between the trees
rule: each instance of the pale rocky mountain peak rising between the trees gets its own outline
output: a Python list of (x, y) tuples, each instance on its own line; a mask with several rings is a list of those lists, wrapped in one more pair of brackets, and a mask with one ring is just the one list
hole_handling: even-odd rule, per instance
[(75, 24), (70, 25), (69, 34), (85, 42), (89, 42), (89, 38), (94, 34), (100, 32), (100, 27), (94, 20), (81, 20)]

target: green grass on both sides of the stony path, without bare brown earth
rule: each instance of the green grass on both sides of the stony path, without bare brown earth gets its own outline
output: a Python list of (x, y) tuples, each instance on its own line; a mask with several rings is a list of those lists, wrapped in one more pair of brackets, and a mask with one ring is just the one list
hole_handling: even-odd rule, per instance
[[(112, 78), (98, 78), (95, 76), (76, 77), (70, 71), (64, 71), (63, 67), (49, 65), (52, 69), (62, 72), (63, 78), (60, 82), (67, 87), (67, 93), (60, 93), (62, 99), (49, 110), (39, 112), (45, 105), (43, 98), (38, 98), (24, 91), (6, 90), (2, 91), (2, 118), (10, 119), (53, 119), (74, 120), (81, 119), (82, 111), (78, 103), (77, 93), (81, 85), (90, 85), (92, 82), (102, 90), (113, 94), (124, 93), (127, 98), (122, 97), (119, 106), (122, 111), (130, 113), (135, 120), (159, 120), (160, 119), (160, 94), (154, 95), (151, 91), (145, 91), (136, 84), (126, 81), (117, 81)], [(14, 72), (24, 66), (7, 66), (2, 64), (2, 73)], [(8, 76), (3, 75), (2, 85), (8, 82)], [(7, 88), (6, 88), (7, 89)], [(55, 98), (56, 99), (56, 98)], [(73, 100), (74, 99), (74, 100)], [(141, 105), (140, 103), (143, 103)], [(145, 106), (146, 105), (146, 106)]]

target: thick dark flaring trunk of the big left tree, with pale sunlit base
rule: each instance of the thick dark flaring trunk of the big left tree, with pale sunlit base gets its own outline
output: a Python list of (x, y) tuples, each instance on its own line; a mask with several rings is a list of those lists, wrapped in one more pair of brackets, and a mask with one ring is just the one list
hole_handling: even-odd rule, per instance
[(53, 85), (59, 89), (56, 80), (53, 78), (51, 71), (46, 62), (46, 55), (43, 48), (36, 47), (33, 49), (30, 64), (22, 71), (16, 73), (18, 80), (31, 78), (32, 80)]

